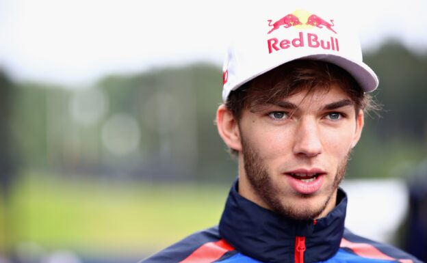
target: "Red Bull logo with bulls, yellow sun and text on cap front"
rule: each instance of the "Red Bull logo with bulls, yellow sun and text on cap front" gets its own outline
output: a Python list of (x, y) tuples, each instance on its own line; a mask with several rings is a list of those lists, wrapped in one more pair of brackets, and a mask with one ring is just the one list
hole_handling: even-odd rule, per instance
[[(305, 21), (305, 23), (302, 23), (301, 21)], [(289, 27), (294, 27), (294, 29), (312, 29), (313, 27), (316, 27), (320, 29), (328, 29), (329, 31), (337, 34), (337, 32), (333, 29), (335, 26), (333, 20), (329, 21), (330, 22), (327, 22), (326, 20), (320, 18), (320, 16), (310, 14), (305, 10), (296, 10), (292, 14), (287, 14), (273, 24), (272, 20), (268, 20), (268, 25), (273, 27), (270, 29), (270, 31), (268, 31), (268, 34), (281, 27), (286, 29)], [(296, 36), (296, 38), (294, 37), (280, 40), (278, 38), (270, 38), (267, 40), (267, 44), (268, 53), (273, 53), (274, 51), (280, 51), (283, 49), (300, 48), (304, 46), (309, 46), (313, 49), (339, 51), (339, 43), (337, 38), (331, 36), (327, 39), (321, 39), (316, 33), (308, 31), (298, 32), (298, 36)]]

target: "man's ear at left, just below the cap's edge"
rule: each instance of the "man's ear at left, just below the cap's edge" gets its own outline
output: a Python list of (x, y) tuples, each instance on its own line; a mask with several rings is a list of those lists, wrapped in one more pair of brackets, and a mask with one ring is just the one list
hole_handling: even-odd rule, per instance
[(216, 111), (216, 126), (224, 143), (229, 148), (240, 152), (242, 150), (242, 142), (240, 140), (239, 124), (231, 111), (223, 104)]

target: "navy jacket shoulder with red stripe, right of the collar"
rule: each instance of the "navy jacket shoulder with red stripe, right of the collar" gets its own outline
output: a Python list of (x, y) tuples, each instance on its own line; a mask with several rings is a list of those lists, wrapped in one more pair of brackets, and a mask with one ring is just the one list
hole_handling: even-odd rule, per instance
[(401, 263), (423, 263), (413, 255), (402, 251), (391, 245), (378, 243), (368, 238), (363, 238), (353, 234), (350, 230), (344, 230), (344, 236), (341, 240), (341, 249), (354, 253), (361, 258), (374, 260), (389, 260)]

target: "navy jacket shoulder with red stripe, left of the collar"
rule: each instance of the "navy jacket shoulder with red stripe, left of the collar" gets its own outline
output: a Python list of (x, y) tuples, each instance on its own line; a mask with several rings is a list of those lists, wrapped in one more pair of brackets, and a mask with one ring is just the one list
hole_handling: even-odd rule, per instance
[(214, 262), (233, 250), (215, 226), (187, 236), (139, 263)]

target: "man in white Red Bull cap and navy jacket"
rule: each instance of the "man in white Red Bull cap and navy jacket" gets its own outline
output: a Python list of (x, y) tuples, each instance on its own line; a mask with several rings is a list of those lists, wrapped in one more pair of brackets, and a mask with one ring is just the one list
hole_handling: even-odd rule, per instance
[(220, 224), (142, 262), (420, 262), (344, 227), (339, 183), (378, 86), (354, 32), (324, 12), (276, 11), (224, 63), (216, 122), (239, 176)]

